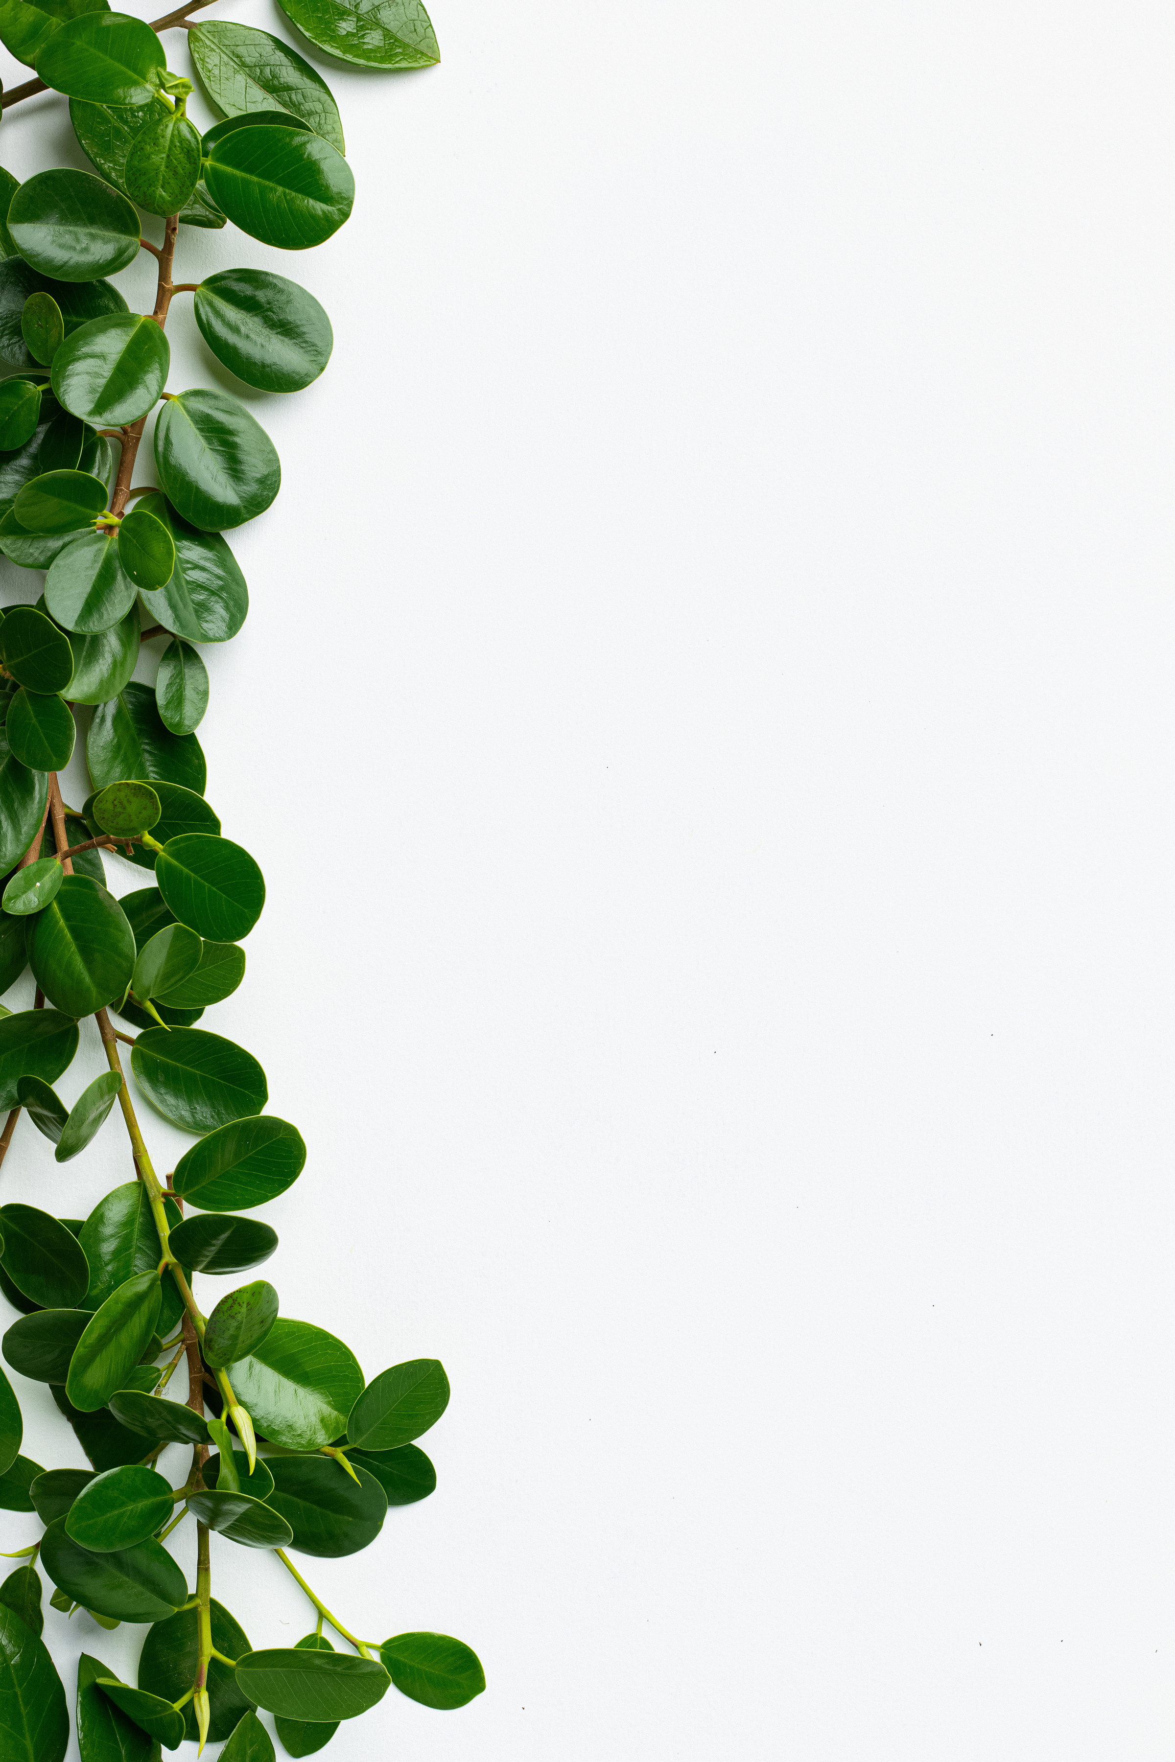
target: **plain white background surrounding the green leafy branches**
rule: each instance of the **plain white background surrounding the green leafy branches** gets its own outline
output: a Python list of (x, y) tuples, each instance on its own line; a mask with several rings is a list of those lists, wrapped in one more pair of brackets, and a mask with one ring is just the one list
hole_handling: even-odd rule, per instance
[[(201, 728), (270, 883), (208, 1025), (310, 1145), (270, 1276), (453, 1381), (437, 1494), (308, 1575), (490, 1679), (328, 1755), (1168, 1757), (1170, 7), (435, 25), (425, 74), (317, 58), (326, 248), (185, 234), (303, 280), (326, 375), (169, 322), (284, 465)], [(0, 159), (81, 164), (62, 100)], [(23, 1122), (4, 1193), (129, 1177), (116, 1122), (63, 1170)], [(312, 1625), (213, 1577), (254, 1644)]]

